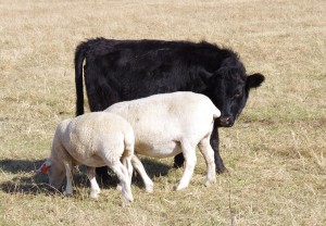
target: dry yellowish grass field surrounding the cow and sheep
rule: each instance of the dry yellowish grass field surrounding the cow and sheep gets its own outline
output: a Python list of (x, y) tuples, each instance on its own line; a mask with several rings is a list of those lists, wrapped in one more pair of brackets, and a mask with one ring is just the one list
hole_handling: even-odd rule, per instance
[[(0, 225), (326, 225), (325, 0), (0, 0)], [(202, 39), (230, 47), (266, 81), (221, 129), (228, 174), (189, 188), (172, 159), (143, 159), (154, 181), (121, 205), (116, 178), (89, 199), (36, 175), (57, 124), (74, 116), (74, 49), (83, 40)]]

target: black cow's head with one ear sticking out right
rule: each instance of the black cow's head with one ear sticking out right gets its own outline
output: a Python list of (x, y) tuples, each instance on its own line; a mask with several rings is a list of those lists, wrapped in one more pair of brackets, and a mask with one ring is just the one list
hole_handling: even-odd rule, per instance
[(259, 87), (265, 77), (262, 74), (247, 75), (237, 58), (227, 58), (222, 66), (206, 80), (206, 96), (220, 109), (217, 126), (230, 127), (247, 103), (251, 88)]

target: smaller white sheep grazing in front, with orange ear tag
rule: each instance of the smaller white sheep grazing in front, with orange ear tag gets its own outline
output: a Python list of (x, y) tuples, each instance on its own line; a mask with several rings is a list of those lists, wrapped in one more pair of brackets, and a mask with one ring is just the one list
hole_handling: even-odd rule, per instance
[[(91, 198), (98, 198), (95, 167), (108, 165), (118, 177), (123, 196), (133, 201), (131, 156), (135, 136), (123, 117), (108, 112), (93, 112), (62, 121), (55, 130), (50, 158), (38, 170), (47, 173), (50, 185), (61, 188), (66, 177), (65, 194), (73, 193), (73, 167), (87, 166)], [(122, 162), (125, 164), (123, 165)]]

